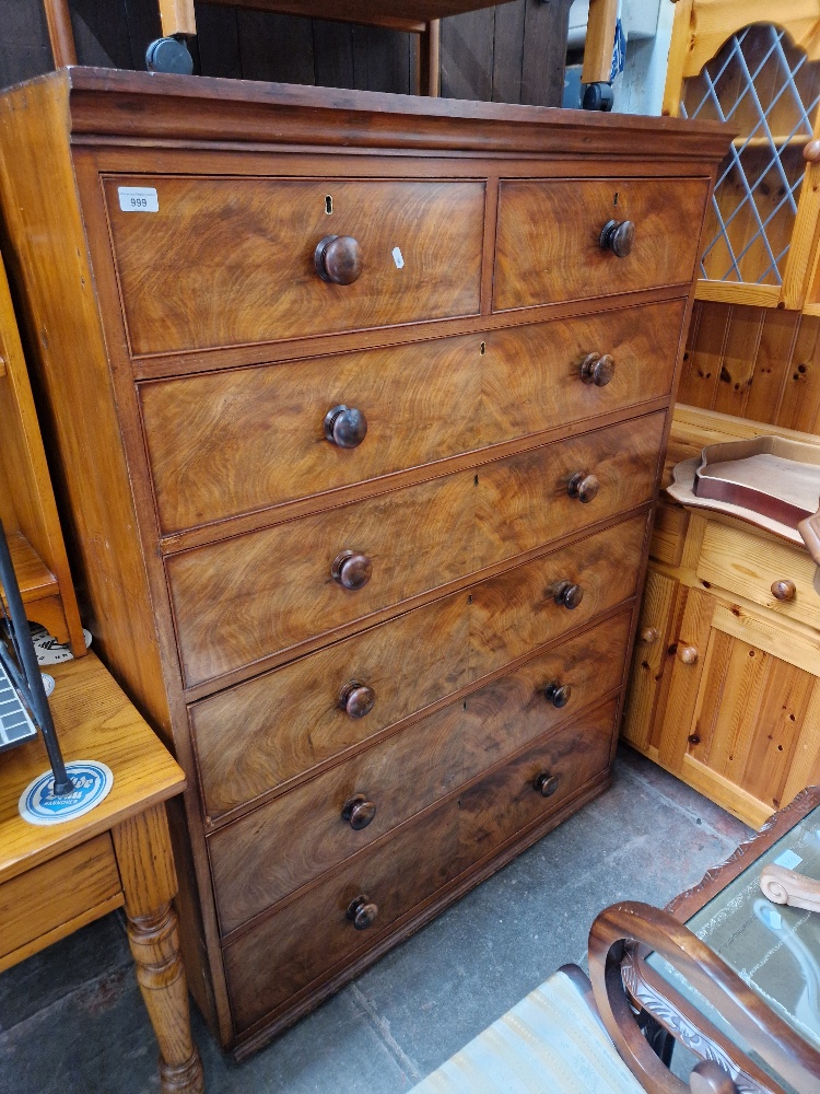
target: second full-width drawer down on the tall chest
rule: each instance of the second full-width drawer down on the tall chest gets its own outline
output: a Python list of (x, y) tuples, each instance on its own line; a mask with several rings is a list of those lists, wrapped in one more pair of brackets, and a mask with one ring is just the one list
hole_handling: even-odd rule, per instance
[[(166, 559), (190, 686), (535, 550), (653, 497), (663, 412)], [(571, 497), (575, 476), (600, 489)], [(365, 556), (358, 590), (335, 559)]]

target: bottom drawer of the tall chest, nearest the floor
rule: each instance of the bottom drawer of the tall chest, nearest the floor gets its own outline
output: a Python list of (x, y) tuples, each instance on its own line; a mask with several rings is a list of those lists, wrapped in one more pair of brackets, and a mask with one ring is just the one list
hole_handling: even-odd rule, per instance
[[(551, 734), (458, 799), (401, 825), (231, 941), (224, 958), (237, 1028), (247, 1029), (277, 1008), (293, 1005), (300, 991), (373, 948), (399, 920), (421, 910), (437, 889), (493, 847), (546, 821), (604, 775), (614, 712), (616, 703), (607, 703)], [(543, 772), (555, 780), (546, 798), (535, 785)], [(355, 906), (375, 916), (364, 930), (356, 930), (349, 918)]]

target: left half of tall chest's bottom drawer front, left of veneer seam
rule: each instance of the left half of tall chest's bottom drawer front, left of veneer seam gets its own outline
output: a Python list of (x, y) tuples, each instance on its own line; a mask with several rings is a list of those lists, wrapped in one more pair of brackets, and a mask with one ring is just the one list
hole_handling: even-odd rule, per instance
[[(400, 828), (263, 920), (224, 950), (234, 1021), (245, 1029), (288, 1003), (329, 969), (373, 946), (459, 868), (458, 811), (443, 808)], [(356, 930), (348, 908), (375, 904), (372, 927)]]

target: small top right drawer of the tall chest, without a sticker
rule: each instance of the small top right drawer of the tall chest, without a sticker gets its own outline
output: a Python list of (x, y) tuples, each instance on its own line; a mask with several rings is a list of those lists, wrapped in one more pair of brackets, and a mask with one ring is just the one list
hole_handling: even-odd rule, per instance
[[(503, 182), (494, 311), (690, 281), (707, 194), (705, 178)], [(623, 258), (600, 246), (613, 219), (635, 225)]]

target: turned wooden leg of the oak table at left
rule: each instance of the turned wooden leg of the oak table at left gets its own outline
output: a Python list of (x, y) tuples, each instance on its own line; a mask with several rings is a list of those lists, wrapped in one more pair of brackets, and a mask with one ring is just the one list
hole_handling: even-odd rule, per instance
[(112, 836), (137, 979), (160, 1043), (163, 1094), (202, 1094), (202, 1061), (191, 1038), (188, 985), (171, 906), (177, 882), (164, 805), (124, 822)]

